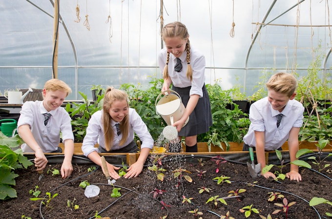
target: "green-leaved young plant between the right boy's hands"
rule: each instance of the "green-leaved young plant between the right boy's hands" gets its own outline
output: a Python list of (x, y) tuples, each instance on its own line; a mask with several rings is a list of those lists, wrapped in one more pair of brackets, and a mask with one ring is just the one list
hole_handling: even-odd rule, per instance
[[(301, 150), (298, 150), (297, 153), (296, 153), (296, 158), (299, 158), (300, 156), (302, 156), (303, 154), (306, 154), (308, 153), (309, 150), (308, 149), (301, 149)], [(266, 165), (263, 169), (262, 169), (262, 173), (265, 174), (266, 172), (270, 171), (270, 169), (273, 167), (273, 166), (276, 166), (278, 168), (278, 170), (276, 170), (274, 172), (274, 175), (276, 175), (276, 180), (280, 179), (280, 180), (285, 180), (286, 178), (286, 174), (283, 173), (283, 169), (285, 168), (285, 166), (287, 164), (285, 164), (285, 161), (282, 160), (282, 154), (281, 154), (281, 151), (276, 149), (275, 150), (275, 153), (277, 155), (277, 158), (279, 159), (281, 165), (278, 166), (278, 165), (275, 165), (275, 164), (269, 164), (269, 165)], [(307, 162), (305, 161), (302, 161), (302, 160), (295, 160), (295, 161), (292, 161), (290, 162), (289, 164), (295, 164), (297, 166), (302, 166), (302, 167), (306, 167), (306, 168), (311, 168), (311, 165), (308, 164)]]

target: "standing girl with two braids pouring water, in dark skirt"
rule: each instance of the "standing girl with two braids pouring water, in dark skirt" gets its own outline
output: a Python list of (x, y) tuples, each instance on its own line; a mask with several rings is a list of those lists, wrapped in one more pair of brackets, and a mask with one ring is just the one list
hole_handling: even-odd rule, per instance
[[(205, 87), (205, 57), (190, 47), (187, 27), (180, 22), (167, 24), (162, 30), (166, 48), (158, 56), (164, 75), (162, 92), (172, 90), (180, 94), (186, 107), (173, 126), (179, 138), (185, 136), (186, 152), (197, 152), (197, 135), (212, 126), (210, 100)], [(183, 127), (187, 118), (189, 121)]]

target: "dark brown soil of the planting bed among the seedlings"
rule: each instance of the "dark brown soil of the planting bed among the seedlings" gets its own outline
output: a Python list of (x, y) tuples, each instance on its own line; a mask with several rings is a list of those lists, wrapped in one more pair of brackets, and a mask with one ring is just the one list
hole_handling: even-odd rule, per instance
[[(181, 158), (181, 161), (175, 158), (176, 156), (168, 156), (162, 161), (161, 167), (167, 170), (163, 172), (165, 174), (163, 182), (157, 180), (155, 172), (147, 168), (144, 168), (137, 178), (117, 180), (114, 186), (121, 188), (120, 198), (111, 198), (113, 186), (106, 184), (101, 168), (88, 174), (87, 169), (92, 164), (74, 165), (74, 172), (69, 180), (63, 180), (59, 175), (52, 176), (51, 173), (47, 175), (44, 171), (45, 178), (42, 181), (38, 181), (39, 175), (35, 167), (31, 166), (27, 170), (17, 171), (20, 175), (16, 178), (15, 186), (18, 198), (0, 202), (1, 218), (21, 219), (24, 215), (32, 219), (89, 219), (94, 218), (98, 211), (100, 216), (111, 219), (160, 219), (164, 216), (170, 219), (198, 219), (199, 217), (188, 213), (198, 209), (203, 213), (201, 215), (203, 219), (219, 219), (221, 216), (226, 216), (228, 211), (234, 219), (244, 219), (245, 213), (241, 213), (239, 209), (252, 205), (252, 208), (258, 209), (262, 216), (267, 217), (271, 214), (273, 219), (285, 219), (286, 214), (283, 211), (272, 215), (274, 210), (282, 209), (274, 205), (276, 202), (282, 203), (282, 199), (268, 201), (270, 192), (280, 192), (288, 202), (296, 201), (289, 207), (289, 219), (328, 218), (325, 213), (332, 212), (331, 205), (328, 204), (316, 205), (314, 208), (309, 206), (309, 201), (313, 197), (332, 200), (331, 179), (310, 169), (300, 168), (301, 182), (286, 178), (278, 183), (263, 177), (251, 178), (248, 167), (244, 164), (231, 162), (220, 164), (219, 172), (216, 173), (216, 162), (209, 158), (203, 158), (204, 165), (198, 162), (199, 157)], [(178, 178), (174, 178), (172, 171), (180, 167), (191, 172), (183, 172), (183, 175), (190, 176), (192, 183), (187, 182), (184, 177), (180, 183)], [(312, 168), (315, 167), (316, 165), (312, 164)], [(61, 164), (52, 164), (47, 168), (60, 170)], [(288, 172), (288, 169), (289, 165), (286, 165), (283, 172)], [(200, 177), (196, 170), (207, 172)], [(332, 178), (331, 166), (324, 169), (323, 173)], [(217, 184), (212, 180), (223, 175), (230, 177), (228, 180), (231, 183)], [(79, 184), (85, 180), (100, 187), (99, 196), (94, 198), (84, 196), (84, 189), (79, 187)], [(58, 193), (58, 196), (50, 201), (49, 207), (45, 207), (41, 201), (30, 200), (33, 196), (29, 194), (29, 190), (35, 189), (36, 185), (42, 192), (40, 198), (43, 198), (46, 192), (50, 192), (51, 195)], [(201, 187), (210, 188), (211, 191), (199, 194)], [(153, 199), (151, 192), (155, 189), (166, 191)], [(236, 189), (246, 189), (246, 191), (240, 194), (240, 198), (226, 198), (230, 194), (229, 191)], [(193, 198), (191, 203), (183, 203), (184, 196), (187, 199)], [(214, 201), (206, 203), (214, 196), (224, 198), (227, 205), (220, 201), (217, 202), (217, 206), (214, 205)], [(68, 200), (75, 201), (74, 204), (78, 204), (79, 209), (67, 207)], [(259, 215), (253, 212), (249, 218), (260, 219)]]

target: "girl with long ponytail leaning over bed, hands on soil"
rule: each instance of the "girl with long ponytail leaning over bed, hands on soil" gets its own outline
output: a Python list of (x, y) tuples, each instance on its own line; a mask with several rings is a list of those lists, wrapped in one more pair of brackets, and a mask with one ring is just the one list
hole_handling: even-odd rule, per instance
[[(137, 161), (127, 169), (125, 178), (137, 177), (142, 172), (153, 147), (153, 139), (140, 115), (129, 108), (127, 93), (109, 87), (105, 92), (103, 110), (95, 112), (89, 120), (82, 144), (83, 154), (100, 165), (104, 172), (98, 153), (136, 153), (138, 148), (134, 141), (134, 132), (142, 141), (141, 153)], [(99, 147), (95, 147), (97, 142)], [(119, 179), (116, 170), (120, 167), (107, 162), (106, 164), (110, 177)]]

